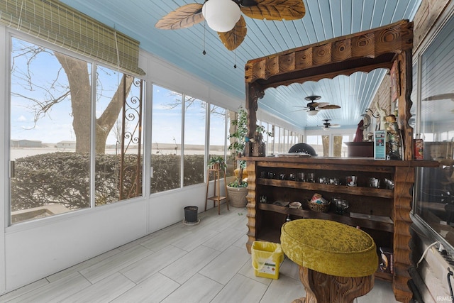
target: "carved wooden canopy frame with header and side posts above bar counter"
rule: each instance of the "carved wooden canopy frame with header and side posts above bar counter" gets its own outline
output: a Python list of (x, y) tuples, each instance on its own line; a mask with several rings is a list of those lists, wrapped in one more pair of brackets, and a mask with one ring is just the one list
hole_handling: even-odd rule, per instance
[[(245, 65), (248, 136), (253, 138), (258, 99), (264, 96), (267, 88), (323, 78), (333, 79), (338, 75), (370, 72), (377, 68), (390, 70), (397, 62), (398, 121), (402, 130), (403, 156), (404, 160), (412, 160), (413, 128), (408, 124), (411, 117), (412, 48), (413, 23), (402, 20), (249, 60)], [(246, 153), (250, 155), (250, 146), (247, 146)]]

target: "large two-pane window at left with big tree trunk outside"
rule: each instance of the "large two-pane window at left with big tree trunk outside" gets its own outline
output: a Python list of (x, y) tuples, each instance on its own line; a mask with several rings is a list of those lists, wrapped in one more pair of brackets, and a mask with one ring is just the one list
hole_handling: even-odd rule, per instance
[[(96, 68), (96, 72), (92, 72)], [(95, 74), (95, 75), (94, 75)], [(126, 90), (120, 79), (128, 79)], [(136, 131), (121, 126), (136, 79), (50, 48), (11, 38), (11, 223), (142, 194), (141, 107)], [(95, 98), (92, 96), (96, 82)], [(119, 94), (119, 92), (126, 92)], [(92, 121), (96, 124), (93, 125)], [(131, 133), (131, 159), (118, 132)], [(93, 138), (94, 136), (94, 138)], [(96, 141), (94, 148), (92, 141)], [(96, 152), (95, 152), (96, 150)], [(96, 157), (94, 157), (96, 156)], [(96, 173), (90, 174), (95, 165)], [(134, 175), (135, 174), (135, 175)], [(94, 180), (95, 188), (92, 188)], [(132, 188), (134, 187), (134, 190)]]

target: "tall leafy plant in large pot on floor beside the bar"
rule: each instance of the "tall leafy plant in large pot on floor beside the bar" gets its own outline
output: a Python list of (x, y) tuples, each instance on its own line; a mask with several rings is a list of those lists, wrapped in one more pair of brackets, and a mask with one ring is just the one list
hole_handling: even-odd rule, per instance
[[(244, 155), (246, 137), (248, 136), (248, 112), (240, 107), (238, 118), (231, 121), (234, 130), (228, 135), (231, 141), (228, 150), (231, 150), (233, 157)], [(257, 126), (255, 133), (267, 133), (263, 126)], [(267, 133), (271, 136), (271, 133)], [(233, 207), (245, 207), (248, 204), (246, 196), (248, 195), (248, 182), (244, 180), (247, 177), (245, 172), (246, 161), (238, 160), (238, 168), (235, 170), (235, 180), (227, 184), (228, 199)]]

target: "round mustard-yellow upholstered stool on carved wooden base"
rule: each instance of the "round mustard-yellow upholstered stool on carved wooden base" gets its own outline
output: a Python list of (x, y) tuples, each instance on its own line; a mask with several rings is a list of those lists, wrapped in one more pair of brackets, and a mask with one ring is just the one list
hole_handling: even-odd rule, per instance
[(306, 298), (298, 302), (353, 302), (374, 286), (378, 255), (364, 231), (335, 221), (299, 219), (281, 230), (285, 255), (299, 265)]

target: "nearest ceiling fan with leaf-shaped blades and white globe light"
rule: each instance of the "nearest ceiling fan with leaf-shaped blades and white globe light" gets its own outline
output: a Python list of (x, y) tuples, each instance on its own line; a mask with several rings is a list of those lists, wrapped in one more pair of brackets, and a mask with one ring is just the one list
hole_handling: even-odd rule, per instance
[(157, 21), (155, 27), (175, 30), (206, 21), (218, 32), (223, 45), (234, 50), (246, 36), (241, 13), (250, 18), (282, 21), (301, 19), (306, 9), (302, 0), (205, 0), (204, 4), (180, 6)]

